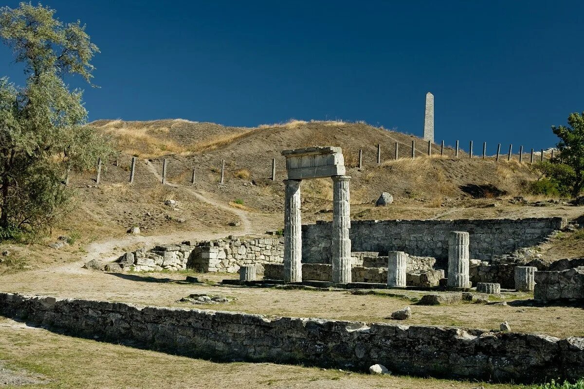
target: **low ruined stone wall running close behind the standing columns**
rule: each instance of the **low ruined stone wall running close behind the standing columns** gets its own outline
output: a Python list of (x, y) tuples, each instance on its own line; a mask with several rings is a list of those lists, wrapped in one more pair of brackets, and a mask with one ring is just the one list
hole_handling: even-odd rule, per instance
[[(373, 282), (387, 283), (387, 267), (367, 268), (363, 266), (353, 266), (351, 269), (352, 282)], [(264, 279), (284, 279), (283, 264), (266, 264), (263, 272)], [(426, 270), (406, 273), (406, 285), (438, 286), (441, 278), (444, 278), (443, 270)], [(326, 281), (332, 282), (332, 265), (328, 264), (302, 264), (303, 281)]]

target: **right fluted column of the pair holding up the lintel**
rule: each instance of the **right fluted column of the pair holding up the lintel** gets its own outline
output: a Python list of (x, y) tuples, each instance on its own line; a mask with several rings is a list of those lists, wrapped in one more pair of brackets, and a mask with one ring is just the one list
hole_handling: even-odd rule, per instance
[(351, 227), (349, 205), (349, 176), (332, 176), (332, 282), (351, 282)]

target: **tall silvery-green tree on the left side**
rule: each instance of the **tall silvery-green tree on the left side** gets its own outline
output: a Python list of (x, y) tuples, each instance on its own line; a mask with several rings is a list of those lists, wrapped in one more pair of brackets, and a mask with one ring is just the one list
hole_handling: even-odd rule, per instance
[(63, 24), (54, 12), (30, 3), (0, 8), (0, 37), (26, 77), (23, 87), (0, 78), (0, 239), (50, 229), (71, 208), (72, 193), (62, 185), (69, 172), (113, 153), (84, 126), (82, 91), (64, 82), (76, 74), (90, 82), (99, 50), (85, 26)]

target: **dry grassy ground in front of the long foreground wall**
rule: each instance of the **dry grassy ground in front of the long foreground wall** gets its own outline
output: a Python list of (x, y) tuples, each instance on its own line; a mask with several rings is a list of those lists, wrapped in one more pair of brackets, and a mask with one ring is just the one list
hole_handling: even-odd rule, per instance
[(6, 319), (0, 319), (0, 360), (51, 380), (30, 388), (520, 388), (273, 363), (215, 363), (67, 337)]

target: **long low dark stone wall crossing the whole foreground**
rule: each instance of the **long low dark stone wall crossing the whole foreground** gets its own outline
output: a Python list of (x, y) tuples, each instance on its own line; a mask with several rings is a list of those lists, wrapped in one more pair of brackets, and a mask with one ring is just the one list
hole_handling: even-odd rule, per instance
[(467, 328), (265, 317), (0, 293), (0, 313), (86, 338), (216, 360), (494, 381), (576, 380), (584, 338)]

